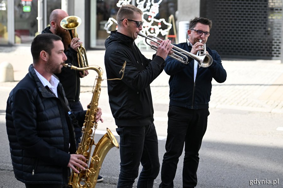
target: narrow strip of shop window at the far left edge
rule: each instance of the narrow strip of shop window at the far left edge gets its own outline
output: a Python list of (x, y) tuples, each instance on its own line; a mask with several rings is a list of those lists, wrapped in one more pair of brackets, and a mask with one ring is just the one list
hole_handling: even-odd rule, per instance
[(0, 0), (0, 44), (8, 44), (8, 14), (7, 0)]

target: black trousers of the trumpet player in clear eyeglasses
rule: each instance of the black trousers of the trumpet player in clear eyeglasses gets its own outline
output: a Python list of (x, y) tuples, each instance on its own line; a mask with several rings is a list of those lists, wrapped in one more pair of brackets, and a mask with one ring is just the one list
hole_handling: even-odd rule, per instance
[(172, 188), (177, 164), (185, 143), (183, 188), (197, 185), (198, 151), (207, 128), (208, 109), (169, 106), (168, 129), (161, 168), (160, 188)]

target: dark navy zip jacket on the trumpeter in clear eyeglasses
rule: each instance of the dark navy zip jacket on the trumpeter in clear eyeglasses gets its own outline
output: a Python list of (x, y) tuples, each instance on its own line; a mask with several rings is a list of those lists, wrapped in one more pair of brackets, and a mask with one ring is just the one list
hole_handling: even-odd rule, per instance
[[(180, 43), (175, 46), (191, 51), (188, 43)], [(183, 64), (171, 57), (165, 60), (165, 72), (170, 75), (170, 105), (191, 109), (208, 108), (210, 101), (212, 78), (218, 83), (226, 80), (226, 71), (221, 64), (220, 55), (215, 50), (206, 48), (213, 59), (212, 65), (207, 68), (197, 66), (197, 76), (194, 82), (194, 59), (189, 58), (188, 64)]]

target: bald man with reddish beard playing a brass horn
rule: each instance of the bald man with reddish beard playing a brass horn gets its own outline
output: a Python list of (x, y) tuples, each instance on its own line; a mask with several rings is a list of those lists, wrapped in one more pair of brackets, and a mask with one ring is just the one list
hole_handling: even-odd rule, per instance
[[(65, 61), (66, 64), (71, 64), (76, 67), (79, 67), (79, 60), (77, 58), (78, 48), (82, 44), (80, 42), (80, 38), (71, 36), (69, 30), (63, 29), (60, 25), (61, 21), (69, 17), (68, 13), (62, 9), (55, 9), (50, 13), (49, 16), (49, 24), (47, 28), (45, 28), (42, 33), (51, 33), (58, 35), (62, 38), (62, 42), (64, 44), (64, 53), (67, 56), (67, 60)], [(73, 31), (72, 31), (73, 32)], [(88, 75), (88, 70), (84, 70), (84, 72), (69, 69), (66, 67), (62, 68), (61, 73), (55, 74), (58, 78), (60, 83), (62, 84), (66, 98), (69, 102), (69, 107), (73, 112), (82, 111), (83, 107), (80, 103), (80, 78), (83, 78)], [(100, 109), (100, 108), (99, 108)], [(97, 112), (97, 115), (101, 116), (101, 109)], [(100, 118), (101, 122), (103, 119)], [(76, 140), (76, 147), (78, 148), (78, 144), (81, 141), (81, 127), (75, 127), (75, 140)], [(97, 182), (102, 181), (103, 177), (98, 176)]]

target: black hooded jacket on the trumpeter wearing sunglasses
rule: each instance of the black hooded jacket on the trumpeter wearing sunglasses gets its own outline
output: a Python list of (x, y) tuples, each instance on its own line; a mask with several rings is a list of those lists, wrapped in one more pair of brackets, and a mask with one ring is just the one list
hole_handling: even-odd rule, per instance
[(164, 60), (147, 59), (130, 37), (112, 31), (105, 41), (107, 78), (120, 78), (119, 71), (126, 61), (122, 80), (107, 81), (110, 108), (117, 126), (141, 126), (153, 122), (153, 104), (149, 84), (163, 71)]

